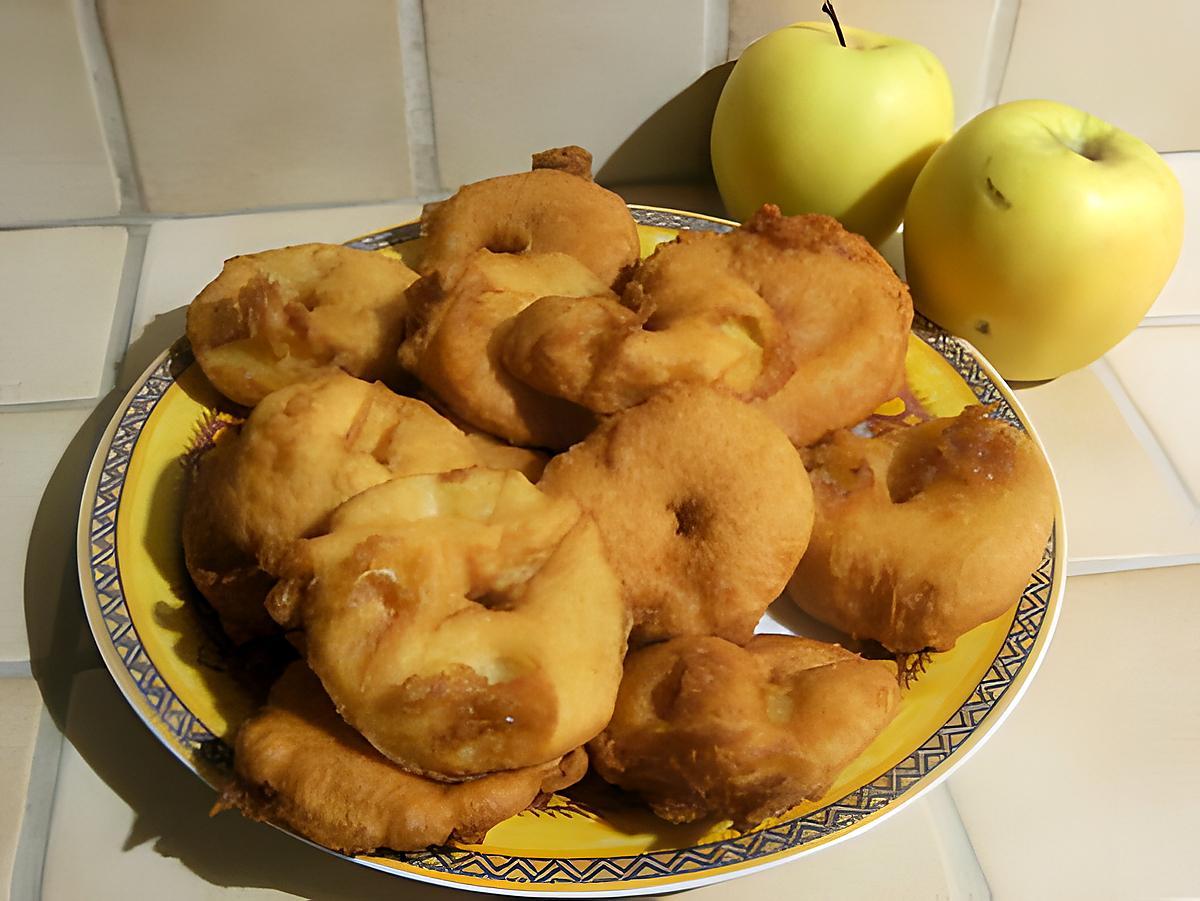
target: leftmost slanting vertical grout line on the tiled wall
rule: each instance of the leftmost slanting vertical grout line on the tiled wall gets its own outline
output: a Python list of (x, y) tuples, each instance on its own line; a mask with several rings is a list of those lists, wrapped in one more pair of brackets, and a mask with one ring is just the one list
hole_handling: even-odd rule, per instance
[(91, 74), (92, 95), (100, 127), (108, 150), (108, 161), (116, 175), (121, 212), (145, 209), (138, 179), (133, 144), (130, 140), (125, 104), (116, 84), (113, 59), (108, 54), (104, 29), (100, 22), (98, 0), (74, 0), (76, 24), (84, 61)]

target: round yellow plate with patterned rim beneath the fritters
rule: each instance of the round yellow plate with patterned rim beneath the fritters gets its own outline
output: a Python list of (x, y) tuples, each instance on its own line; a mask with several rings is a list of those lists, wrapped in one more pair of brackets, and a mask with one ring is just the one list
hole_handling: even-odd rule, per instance
[[(680, 228), (732, 224), (653, 208), (632, 211), (643, 252)], [(416, 224), (409, 223), (352, 245), (412, 258), (415, 238)], [(911, 425), (983, 402), (1032, 434), (988, 362), (930, 323), (914, 324), (906, 370), (906, 389), (876, 416)], [(104, 433), (84, 487), (78, 536), (84, 606), (113, 678), (162, 743), (214, 786), (228, 777), (229, 739), (253, 707), (205, 629), (180, 548), (181, 461), (218, 403), (186, 342), (164, 352)], [(824, 798), (754, 830), (738, 833), (721, 822), (671, 825), (593, 787), (512, 817), (482, 845), (354, 860), (502, 894), (635, 895), (749, 873), (860, 833), (944, 779), (1000, 726), (1045, 653), (1064, 559), (1058, 505), (1042, 564), (1020, 601), (926, 661), (896, 719)], [(815, 626), (776, 602), (761, 629)]]

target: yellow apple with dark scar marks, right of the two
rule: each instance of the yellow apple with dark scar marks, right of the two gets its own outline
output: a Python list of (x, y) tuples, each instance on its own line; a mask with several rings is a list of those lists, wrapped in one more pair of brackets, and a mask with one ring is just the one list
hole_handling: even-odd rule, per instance
[(908, 198), (913, 302), (1013, 380), (1086, 366), (1128, 335), (1183, 240), (1183, 192), (1148, 145), (1063, 103), (980, 113)]

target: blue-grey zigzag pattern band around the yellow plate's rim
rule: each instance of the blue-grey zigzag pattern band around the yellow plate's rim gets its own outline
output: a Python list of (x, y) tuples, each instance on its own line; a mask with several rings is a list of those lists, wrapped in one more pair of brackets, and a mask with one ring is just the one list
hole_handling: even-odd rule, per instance
[[(728, 230), (728, 226), (722, 223), (658, 210), (635, 208), (634, 216), (642, 224), (665, 228)], [(419, 227), (409, 224), (360, 239), (352, 246), (378, 250), (410, 240), (418, 234)], [(913, 323), (913, 331), (950, 362), (982, 403), (995, 404), (991, 415), (1024, 427), (1015, 410), (962, 342), (919, 316)], [(133, 448), (155, 406), (174, 384), (173, 373), (180, 372), (188, 362), (191, 352), (186, 341), (181, 341), (172, 349), (167, 360), (148, 377), (120, 414), (116, 432), (104, 457), (95, 498), (91, 499), (89, 569), (108, 639), (157, 720), (178, 741), (181, 750), (191, 752), (186, 756), (194, 761), (220, 759), (222, 756), (227, 758), (228, 749), (215, 739), (204, 723), (176, 697), (162, 679), (154, 661), (146, 656), (125, 602), (116, 555), (116, 517)], [(437, 848), (418, 854), (390, 857), (431, 873), (475, 877), (514, 887), (530, 883), (541, 885), (636, 883), (643, 879), (704, 873), (779, 852), (799, 849), (810, 842), (833, 836), (864, 817), (904, 799), (940, 767), (946, 765), (955, 751), (997, 709), (1030, 660), (1050, 608), (1055, 582), (1056, 541), (1057, 533), (1050, 536), (1042, 564), (1021, 595), (1003, 645), (971, 697), (904, 761), (869, 785), (820, 810), (736, 837), (690, 848), (643, 854), (568, 859), (509, 857), (458, 848)], [(379, 857), (389, 855), (380, 853)]]

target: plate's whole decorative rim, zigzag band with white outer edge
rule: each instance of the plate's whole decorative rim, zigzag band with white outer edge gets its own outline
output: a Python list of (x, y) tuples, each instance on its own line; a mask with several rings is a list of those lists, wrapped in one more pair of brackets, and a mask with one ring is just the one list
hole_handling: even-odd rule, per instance
[[(638, 224), (725, 232), (737, 223), (668, 208), (630, 204)], [(380, 250), (419, 235), (407, 222), (348, 241)], [(959, 373), (982, 403), (1026, 431), (1045, 449), (1009, 386), (970, 342), (919, 314), (913, 334)], [(202, 723), (158, 673), (126, 607), (116, 555), (116, 517), (125, 471), (142, 427), (190, 358), (186, 338), (162, 352), (138, 377), (106, 428), (84, 482), (77, 533), (83, 603), (104, 665), (146, 727), (187, 769), (215, 786), (229, 749)], [(698, 888), (796, 860), (877, 825), (924, 795), (965, 763), (1000, 728), (1024, 696), (1050, 645), (1062, 608), (1066, 534), (1055, 481), (1055, 522), (1042, 563), (1016, 605), (1000, 650), (970, 697), (904, 759), (878, 777), (804, 816), (732, 839), (688, 848), (613, 857), (512, 857), (464, 848), (415, 854), (346, 857), (358, 864), (421, 882), (492, 894), (565, 897), (630, 896)], [(287, 831), (287, 830), (284, 830)], [(322, 847), (300, 837), (313, 847)]]

